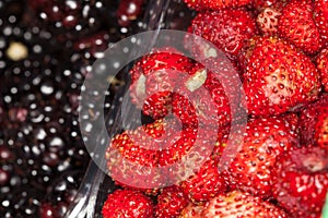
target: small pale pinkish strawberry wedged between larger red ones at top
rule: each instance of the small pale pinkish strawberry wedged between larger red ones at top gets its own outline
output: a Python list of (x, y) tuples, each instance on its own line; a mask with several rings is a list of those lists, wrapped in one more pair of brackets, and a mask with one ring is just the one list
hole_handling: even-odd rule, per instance
[(256, 19), (256, 23), (263, 36), (274, 36), (278, 33), (278, 21), (281, 10), (277, 7), (265, 8)]

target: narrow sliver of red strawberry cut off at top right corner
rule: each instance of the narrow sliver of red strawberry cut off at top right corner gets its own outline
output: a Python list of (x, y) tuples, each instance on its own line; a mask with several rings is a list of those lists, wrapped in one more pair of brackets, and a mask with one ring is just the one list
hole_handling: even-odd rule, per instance
[(328, 43), (328, 1), (315, 0), (315, 22), (321, 34), (321, 38)]

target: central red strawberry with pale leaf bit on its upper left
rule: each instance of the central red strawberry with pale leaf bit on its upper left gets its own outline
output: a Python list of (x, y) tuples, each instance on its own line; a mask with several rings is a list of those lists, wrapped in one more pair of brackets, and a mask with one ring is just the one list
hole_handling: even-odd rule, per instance
[[(173, 113), (185, 125), (199, 123), (218, 128), (231, 122), (231, 113), (236, 112), (234, 110), (237, 108), (239, 93), (231, 78), (221, 80), (224, 75), (219, 74), (222, 72), (216, 74), (202, 64), (196, 64), (179, 88), (183, 95), (173, 94)], [(225, 74), (229, 76), (229, 73)]]

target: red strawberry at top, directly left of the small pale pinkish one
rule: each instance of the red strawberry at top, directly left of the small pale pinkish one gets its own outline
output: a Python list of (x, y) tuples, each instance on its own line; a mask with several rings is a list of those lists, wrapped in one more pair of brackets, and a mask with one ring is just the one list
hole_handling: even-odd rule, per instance
[[(256, 33), (256, 23), (250, 14), (242, 9), (206, 11), (197, 14), (188, 32), (201, 36), (229, 56), (236, 56), (245, 40)], [(195, 56), (206, 58), (219, 56), (211, 52), (213, 49), (207, 50), (202, 44), (191, 46), (195, 47), (192, 48)]]

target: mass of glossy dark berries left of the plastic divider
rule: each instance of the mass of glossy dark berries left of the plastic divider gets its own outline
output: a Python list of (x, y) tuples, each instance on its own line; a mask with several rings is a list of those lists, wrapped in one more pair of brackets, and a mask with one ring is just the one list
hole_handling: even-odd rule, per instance
[(109, 44), (139, 28), (144, 3), (0, 0), (0, 217), (67, 213), (90, 160), (81, 85)]

